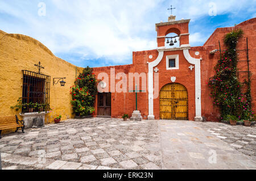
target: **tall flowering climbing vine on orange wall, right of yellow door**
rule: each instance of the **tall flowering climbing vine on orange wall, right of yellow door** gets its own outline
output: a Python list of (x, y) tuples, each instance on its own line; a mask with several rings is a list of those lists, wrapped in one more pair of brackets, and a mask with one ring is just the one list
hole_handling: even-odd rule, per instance
[(224, 42), (226, 50), (214, 67), (215, 75), (208, 83), (214, 98), (213, 104), (221, 111), (222, 119), (234, 115), (240, 120), (250, 120), (253, 116), (250, 104), (250, 79), (245, 82), (247, 91), (242, 93), (242, 83), (237, 78), (237, 42), (242, 36), (242, 30), (226, 34)]

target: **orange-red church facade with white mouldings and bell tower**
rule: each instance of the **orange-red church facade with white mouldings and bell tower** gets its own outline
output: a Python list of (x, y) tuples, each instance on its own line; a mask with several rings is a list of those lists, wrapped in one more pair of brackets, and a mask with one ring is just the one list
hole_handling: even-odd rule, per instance
[[(188, 91), (188, 120), (202, 120), (204, 117), (207, 121), (217, 121), (220, 117), (220, 113), (217, 107), (213, 106), (212, 99), (210, 99), (209, 96), (210, 90), (207, 83), (209, 82), (209, 78), (214, 75), (214, 66), (220, 58), (220, 53), (217, 51), (214, 54), (210, 54), (210, 52), (214, 49), (219, 49), (219, 40), (221, 48), (225, 49), (223, 41), (225, 34), (239, 28), (243, 30), (244, 34), (239, 40), (237, 49), (246, 49), (246, 37), (248, 38), (249, 64), (251, 71), (251, 101), (253, 110), (256, 110), (256, 48), (254, 45), (256, 42), (256, 18), (246, 20), (235, 27), (217, 28), (201, 47), (191, 47), (189, 45), (188, 28), (189, 19), (158, 23), (156, 24), (156, 40), (158, 43), (156, 49), (133, 52), (133, 64), (131, 65), (94, 68), (96, 76), (100, 73), (108, 74), (109, 78), (104, 79), (103, 81), (109, 85), (105, 92), (111, 92), (112, 95), (112, 117), (120, 118), (124, 113), (131, 116), (131, 113), (135, 110), (135, 93), (129, 92), (129, 86), (127, 86), (127, 92), (110, 90), (111, 83), (112, 85), (117, 85), (120, 81), (120, 79), (115, 79), (117, 77), (111, 77), (110, 70), (114, 69), (114, 75), (124, 73), (127, 76), (127, 80), (129, 79), (129, 73), (146, 73), (146, 88), (142, 87), (142, 79), (140, 79), (140, 86), (138, 87), (139, 90), (146, 89), (146, 92), (138, 93), (138, 110), (141, 111), (143, 119), (159, 119), (159, 96), (153, 98), (152, 93), (150, 92), (152, 86), (157, 87), (154, 82), (156, 76), (155, 69), (157, 68), (159, 86), (158, 90), (155, 90), (158, 92), (155, 93), (159, 94), (164, 85), (172, 83), (171, 77), (175, 77), (175, 82), (185, 86)], [(169, 33), (176, 33), (179, 36), (179, 48), (164, 47), (166, 36)], [(247, 60), (246, 51), (238, 51), (238, 53), (239, 60)], [(167, 68), (168, 56), (178, 56), (179, 68), (171, 70)], [(241, 71), (246, 71), (247, 62), (238, 62), (238, 68)], [(246, 77), (247, 73), (239, 74), (241, 81)], [(135, 87), (135, 83), (133, 87)], [(97, 116), (97, 101), (95, 107), (95, 116)]]

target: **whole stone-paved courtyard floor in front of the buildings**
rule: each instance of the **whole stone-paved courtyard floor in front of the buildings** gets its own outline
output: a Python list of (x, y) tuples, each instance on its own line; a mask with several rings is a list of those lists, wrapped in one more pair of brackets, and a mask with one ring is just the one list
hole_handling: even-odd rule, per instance
[[(2, 167), (7, 170), (256, 169), (256, 162), (237, 151), (236, 146), (224, 142), (228, 137), (224, 139), (224, 134), (216, 132), (228, 129), (239, 128), (192, 121), (72, 119), (27, 129), (24, 134), (3, 135)], [(255, 141), (255, 129), (250, 129), (250, 133), (246, 132), (249, 136), (243, 137)]]

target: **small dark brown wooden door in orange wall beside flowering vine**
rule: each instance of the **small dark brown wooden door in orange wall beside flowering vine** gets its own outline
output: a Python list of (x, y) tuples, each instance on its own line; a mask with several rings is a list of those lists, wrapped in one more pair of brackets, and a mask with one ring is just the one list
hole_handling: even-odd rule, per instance
[(98, 116), (111, 116), (111, 93), (98, 93)]

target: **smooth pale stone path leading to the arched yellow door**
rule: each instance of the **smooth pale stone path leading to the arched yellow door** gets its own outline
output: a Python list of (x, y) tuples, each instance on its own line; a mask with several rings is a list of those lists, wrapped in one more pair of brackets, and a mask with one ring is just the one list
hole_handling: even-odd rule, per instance
[(164, 169), (256, 169), (255, 161), (235, 149), (241, 146), (212, 134), (222, 130), (217, 124), (209, 130), (204, 123), (159, 121)]

